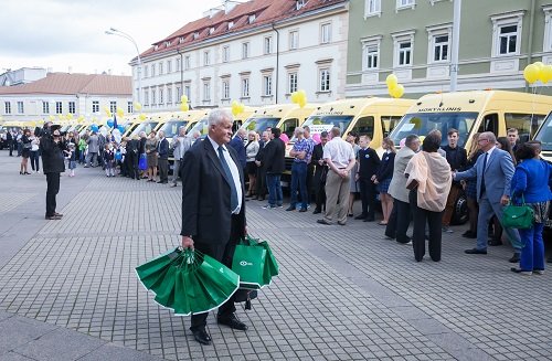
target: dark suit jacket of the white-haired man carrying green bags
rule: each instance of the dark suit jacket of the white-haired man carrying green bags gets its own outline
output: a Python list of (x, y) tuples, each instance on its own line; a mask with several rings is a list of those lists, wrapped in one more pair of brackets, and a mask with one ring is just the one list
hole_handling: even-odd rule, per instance
[[(231, 188), (221, 161), (211, 141), (197, 141), (184, 155), (182, 166), (182, 231), (192, 236), (194, 245), (203, 253), (221, 252), (229, 241), (245, 234), (245, 190), (243, 169), (232, 147), (229, 149), (237, 166), (242, 181), (242, 209), (240, 214), (230, 211)], [(234, 232), (232, 232), (234, 231)], [(231, 233), (234, 233), (231, 236)], [(220, 259), (215, 254), (211, 256)]]

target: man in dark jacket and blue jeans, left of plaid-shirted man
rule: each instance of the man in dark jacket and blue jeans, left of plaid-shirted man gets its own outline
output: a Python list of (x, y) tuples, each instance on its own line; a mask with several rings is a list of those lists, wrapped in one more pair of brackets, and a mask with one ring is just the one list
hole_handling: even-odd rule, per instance
[(270, 141), (265, 146), (263, 153), (268, 187), (268, 204), (263, 206), (264, 209), (282, 206), (284, 203), (280, 178), (286, 169), (286, 145), (279, 139), (280, 135), (279, 128), (270, 129)]

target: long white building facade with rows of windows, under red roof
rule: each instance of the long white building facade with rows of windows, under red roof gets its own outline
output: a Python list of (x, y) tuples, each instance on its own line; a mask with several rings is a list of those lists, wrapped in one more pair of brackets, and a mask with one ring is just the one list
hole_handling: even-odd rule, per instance
[[(300, 8), (300, 3), (294, 7)], [(197, 29), (192, 36), (208, 34), (203, 41), (185, 45), (187, 36), (182, 35), (157, 43), (141, 59), (144, 109), (178, 109), (181, 95), (188, 96), (193, 108), (227, 106), (232, 100), (250, 106), (288, 103), (298, 89), (315, 103), (343, 97), (348, 1), (323, 3), (258, 26), (255, 14), (250, 14), (246, 21), (251, 26), (240, 30), (236, 24), (233, 31), (230, 19), (237, 6), (227, 13), (221, 10), (217, 24)], [(221, 26), (226, 26), (221, 35), (209, 36), (221, 32)], [(172, 42), (182, 42), (182, 46), (167, 49)], [(136, 94), (138, 64), (131, 65)]]

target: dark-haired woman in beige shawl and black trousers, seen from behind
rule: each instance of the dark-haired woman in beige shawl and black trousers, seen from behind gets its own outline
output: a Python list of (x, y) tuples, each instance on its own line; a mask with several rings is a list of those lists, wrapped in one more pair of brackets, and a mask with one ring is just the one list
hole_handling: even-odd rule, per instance
[(440, 261), (442, 219), (452, 184), (450, 166), (437, 150), (440, 131), (432, 131), (423, 142), (423, 151), (410, 160), (404, 173), (414, 220), (412, 245), (414, 257), (421, 262), (425, 255), (425, 224), (429, 226), (429, 256)]

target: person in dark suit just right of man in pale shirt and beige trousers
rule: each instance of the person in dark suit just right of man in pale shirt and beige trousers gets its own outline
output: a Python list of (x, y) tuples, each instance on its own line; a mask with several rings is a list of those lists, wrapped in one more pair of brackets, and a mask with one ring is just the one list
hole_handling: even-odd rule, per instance
[(380, 167), (380, 157), (375, 150), (370, 148), (369, 136), (362, 136), (359, 139), (359, 180), (360, 199), (362, 200), (362, 213), (357, 215), (355, 220), (364, 220), (364, 222), (373, 222), (375, 219), (375, 195), (376, 189), (374, 184), (375, 173)]

